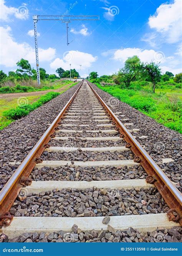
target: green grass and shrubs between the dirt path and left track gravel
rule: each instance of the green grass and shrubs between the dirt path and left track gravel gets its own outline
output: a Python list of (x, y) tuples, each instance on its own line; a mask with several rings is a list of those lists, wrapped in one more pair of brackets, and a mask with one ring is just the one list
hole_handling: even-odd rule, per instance
[[(52, 95), (50, 93), (46, 93), (44, 96), (46, 96), (46, 95), (49, 95), (49, 96), (48, 97), (46, 96), (46, 98), (44, 98), (45, 100), (41, 100), (41, 98), (44, 97), (42, 95), (26, 96), (23, 98), (18, 98), (18, 95), (17, 95), (17, 98), (5, 98), (5, 99), (2, 98), (2, 99), (0, 99), (0, 130), (2, 130), (3, 128), (8, 126), (10, 123), (15, 121), (16, 119), (27, 115), (28, 113), (30, 113), (30, 111), (33, 111), (37, 107), (45, 104), (46, 102), (48, 102), (49, 100), (54, 98), (54, 96), (58, 96), (61, 93), (65, 92), (66, 90), (68, 90), (69, 88), (71, 88), (72, 86), (74, 86), (76, 84), (77, 83), (73, 83), (70, 81), (61, 81), (61, 82), (54, 83), (53, 90), (61, 89), (61, 88), (63, 90), (61, 90), (59, 93), (56, 93), (56, 94), (53, 93)], [(46, 90), (48, 90), (48, 89), (46, 89)], [(23, 91), (23, 92), (25, 92), (25, 91)], [(39, 101), (39, 104), (38, 104), (38, 101)], [(22, 105), (21, 105), (21, 102), (23, 103)], [(41, 102), (41, 104), (40, 104), (40, 102)], [(31, 107), (30, 105), (33, 105), (33, 107)], [(29, 106), (29, 108), (28, 108), (28, 106)], [(19, 109), (19, 107), (26, 111), (19, 110), (18, 115), (17, 115), (17, 108)], [(28, 108), (28, 110), (27, 110), (27, 108)], [(16, 110), (16, 113), (15, 113), (15, 110)]]

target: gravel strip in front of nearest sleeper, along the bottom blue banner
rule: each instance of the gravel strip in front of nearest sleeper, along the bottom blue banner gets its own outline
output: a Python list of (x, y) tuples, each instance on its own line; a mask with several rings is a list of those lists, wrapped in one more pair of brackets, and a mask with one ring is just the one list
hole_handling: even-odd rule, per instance
[(5, 234), (0, 236), (0, 242), (12, 243), (178, 243), (181, 242), (182, 228), (173, 227), (171, 229), (159, 228), (152, 232), (139, 232), (137, 229), (114, 230), (108, 225), (107, 230), (81, 231), (77, 225), (73, 225), (72, 232), (65, 233), (63, 230), (53, 233), (24, 233), (17, 238), (8, 239)]

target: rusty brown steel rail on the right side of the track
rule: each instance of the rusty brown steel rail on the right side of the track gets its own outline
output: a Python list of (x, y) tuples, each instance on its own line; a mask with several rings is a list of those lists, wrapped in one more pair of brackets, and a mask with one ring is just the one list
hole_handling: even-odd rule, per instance
[[(148, 174), (148, 178), (146, 179), (147, 182), (153, 183), (156, 186), (157, 190), (162, 195), (170, 209), (172, 209), (168, 214), (169, 219), (179, 221), (179, 223), (182, 225), (182, 194), (180, 191), (174, 186), (172, 181), (169, 180), (165, 173), (149, 156), (146, 150), (142, 148), (139, 142), (132, 136), (132, 134), (127, 130), (119, 118), (117, 118), (109, 106), (102, 100), (102, 98), (91, 86), (91, 83), (89, 81), (87, 81), (87, 83), (103, 105), (104, 109), (109, 113), (109, 116), (114, 121), (114, 124), (122, 134), (122, 137), (127, 142), (127, 146), (136, 156), (136, 161), (141, 163), (142, 167)], [(177, 213), (177, 217), (173, 215), (173, 212)]]

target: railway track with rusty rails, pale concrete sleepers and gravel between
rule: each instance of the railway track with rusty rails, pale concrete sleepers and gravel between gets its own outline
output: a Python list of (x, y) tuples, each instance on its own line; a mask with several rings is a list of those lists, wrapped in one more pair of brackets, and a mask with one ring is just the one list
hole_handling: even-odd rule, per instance
[(25, 160), (11, 163), (1, 239), (180, 241), (181, 193), (137, 142), (139, 129), (84, 80)]

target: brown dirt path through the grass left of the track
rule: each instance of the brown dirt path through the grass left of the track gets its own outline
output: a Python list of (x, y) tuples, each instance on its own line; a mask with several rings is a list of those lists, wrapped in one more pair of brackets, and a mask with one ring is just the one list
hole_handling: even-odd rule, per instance
[(3, 93), (0, 94), (0, 99), (11, 99), (11, 98), (19, 98), (19, 97), (23, 97), (23, 96), (35, 96), (35, 95), (43, 95), (48, 93), (49, 91), (57, 91), (57, 92), (61, 92), (64, 91), (66, 89), (69, 88), (71, 84), (69, 83), (68, 85), (65, 85), (63, 87), (61, 87), (60, 89), (50, 89), (50, 90), (46, 90), (46, 91), (31, 91), (29, 93)]

